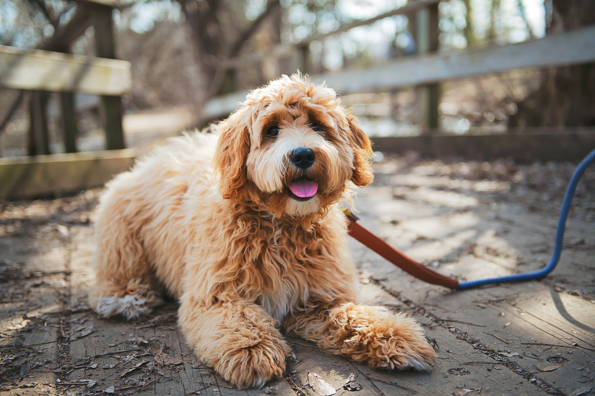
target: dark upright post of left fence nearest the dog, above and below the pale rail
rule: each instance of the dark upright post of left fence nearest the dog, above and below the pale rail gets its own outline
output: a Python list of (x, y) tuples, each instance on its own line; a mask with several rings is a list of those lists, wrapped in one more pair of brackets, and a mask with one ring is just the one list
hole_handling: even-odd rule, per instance
[[(96, 55), (99, 58), (115, 59), (112, 8), (93, 4), (92, 14)], [(101, 102), (104, 107), (105, 148), (107, 150), (124, 148), (122, 98), (120, 96), (102, 96)]]

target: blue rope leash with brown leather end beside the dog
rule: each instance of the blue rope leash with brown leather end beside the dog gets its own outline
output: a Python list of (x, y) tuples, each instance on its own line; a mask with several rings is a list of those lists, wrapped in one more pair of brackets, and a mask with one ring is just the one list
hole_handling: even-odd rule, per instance
[(347, 225), (347, 232), (349, 233), (349, 235), (359, 240), (359, 242), (363, 243), (365, 246), (368, 246), (368, 248), (372, 249), (372, 251), (383, 256), (403, 271), (411, 275), (414, 275), (414, 277), (427, 283), (449, 287), (450, 289), (465, 290), (482, 286), (484, 284), (526, 281), (543, 278), (544, 276), (552, 272), (553, 269), (556, 268), (556, 264), (558, 264), (560, 255), (562, 254), (562, 245), (564, 242), (566, 219), (568, 218), (568, 213), (570, 211), (572, 198), (574, 197), (574, 192), (577, 189), (578, 182), (581, 179), (581, 176), (583, 176), (585, 169), (587, 169), (587, 167), (591, 163), (593, 163), (593, 161), (595, 161), (595, 150), (591, 151), (591, 153), (589, 153), (588, 156), (585, 157), (583, 161), (581, 161), (577, 169), (574, 171), (574, 175), (572, 175), (572, 179), (570, 180), (568, 189), (566, 190), (566, 195), (564, 197), (562, 212), (560, 213), (560, 218), (558, 220), (558, 229), (556, 230), (554, 252), (552, 254), (552, 258), (550, 259), (549, 264), (547, 264), (546, 267), (542, 268), (541, 270), (531, 271), (524, 274), (505, 275), (503, 277), (459, 282), (454, 278), (449, 278), (446, 275), (442, 275), (434, 270), (431, 270), (425, 265), (422, 265), (419, 262), (412, 259), (411, 257), (405, 255), (398, 249), (393, 248), (393, 246), (390, 246), (388, 243), (384, 242), (384, 240), (380, 239), (380, 237), (375, 236), (367, 229), (362, 227), (360, 224), (358, 224), (357, 221), (359, 220), (359, 218), (355, 216), (355, 214), (351, 213), (347, 209), (343, 209), (347, 218), (349, 219), (349, 224)]

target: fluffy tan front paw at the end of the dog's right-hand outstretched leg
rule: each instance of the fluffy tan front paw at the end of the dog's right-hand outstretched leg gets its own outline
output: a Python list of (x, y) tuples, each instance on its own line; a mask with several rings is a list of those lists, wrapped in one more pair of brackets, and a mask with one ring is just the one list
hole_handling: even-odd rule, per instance
[(343, 347), (339, 354), (375, 368), (431, 370), (436, 353), (414, 319), (372, 306), (347, 305), (341, 311), (337, 319), (345, 338), (337, 344)]

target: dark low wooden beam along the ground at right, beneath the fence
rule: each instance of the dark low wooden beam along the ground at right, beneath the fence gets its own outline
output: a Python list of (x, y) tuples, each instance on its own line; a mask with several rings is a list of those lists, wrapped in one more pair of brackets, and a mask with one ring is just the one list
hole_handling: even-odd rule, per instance
[[(535, 131), (536, 133), (530, 133)], [(417, 137), (372, 137), (374, 150), (404, 154), (417, 151), (422, 156), (516, 161), (577, 161), (595, 147), (595, 128), (528, 128), (492, 135), (421, 135)]]

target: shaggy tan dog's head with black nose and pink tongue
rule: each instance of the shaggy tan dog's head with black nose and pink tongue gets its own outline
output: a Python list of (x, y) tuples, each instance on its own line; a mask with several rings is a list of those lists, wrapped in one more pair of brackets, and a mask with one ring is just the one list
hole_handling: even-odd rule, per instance
[(337, 94), (294, 74), (252, 91), (218, 125), (221, 195), (305, 217), (337, 202), (349, 181), (372, 182), (372, 148)]

